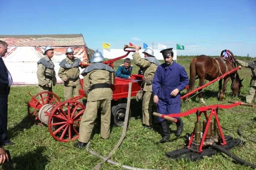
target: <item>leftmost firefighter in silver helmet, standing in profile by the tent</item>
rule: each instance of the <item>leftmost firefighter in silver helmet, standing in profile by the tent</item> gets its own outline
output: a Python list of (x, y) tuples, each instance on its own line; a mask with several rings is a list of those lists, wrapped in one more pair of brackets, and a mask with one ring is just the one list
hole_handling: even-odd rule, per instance
[(54, 49), (51, 46), (46, 46), (44, 52), (45, 56), (37, 62), (39, 92), (52, 92), (52, 88), (56, 84), (54, 64), (52, 62), (52, 57), (54, 55), (53, 50)]

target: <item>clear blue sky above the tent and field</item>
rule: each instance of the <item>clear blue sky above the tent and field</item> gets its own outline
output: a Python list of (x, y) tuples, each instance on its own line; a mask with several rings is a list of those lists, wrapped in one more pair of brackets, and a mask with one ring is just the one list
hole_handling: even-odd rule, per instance
[(0, 0), (0, 35), (83, 34), (87, 46), (129, 42), (177, 55), (256, 57), (256, 0)]

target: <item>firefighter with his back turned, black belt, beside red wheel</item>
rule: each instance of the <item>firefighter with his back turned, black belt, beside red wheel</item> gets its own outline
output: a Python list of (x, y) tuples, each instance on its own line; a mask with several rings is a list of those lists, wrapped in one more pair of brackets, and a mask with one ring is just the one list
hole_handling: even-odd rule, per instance
[(83, 148), (90, 140), (98, 109), (101, 112), (101, 138), (108, 139), (110, 133), (111, 100), (110, 74), (114, 69), (102, 63), (103, 56), (96, 50), (90, 66), (82, 72), (83, 89), (87, 96), (87, 104), (79, 128), (79, 141), (75, 147)]

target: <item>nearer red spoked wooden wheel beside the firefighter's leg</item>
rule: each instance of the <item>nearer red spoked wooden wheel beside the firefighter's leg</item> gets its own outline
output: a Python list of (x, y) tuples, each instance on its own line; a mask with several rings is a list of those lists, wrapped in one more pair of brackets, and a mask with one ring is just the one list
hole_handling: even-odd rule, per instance
[(48, 129), (54, 139), (69, 142), (79, 137), (80, 120), (85, 106), (75, 100), (57, 104), (50, 112)]

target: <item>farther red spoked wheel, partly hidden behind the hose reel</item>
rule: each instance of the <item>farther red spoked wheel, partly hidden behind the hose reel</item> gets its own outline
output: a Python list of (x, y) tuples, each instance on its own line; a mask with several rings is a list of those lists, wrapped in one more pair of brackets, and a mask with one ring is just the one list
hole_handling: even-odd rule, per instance
[[(56, 105), (57, 103), (60, 103), (60, 99), (57, 94), (48, 91), (40, 92), (32, 96), (31, 100), (28, 103), (27, 113), (31, 120), (36, 121), (38, 120), (38, 111), (43, 105)], [(30, 112), (30, 107), (33, 108), (32, 112)]]

